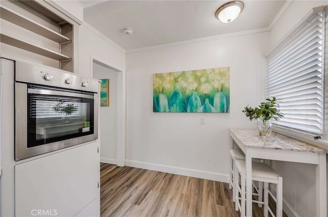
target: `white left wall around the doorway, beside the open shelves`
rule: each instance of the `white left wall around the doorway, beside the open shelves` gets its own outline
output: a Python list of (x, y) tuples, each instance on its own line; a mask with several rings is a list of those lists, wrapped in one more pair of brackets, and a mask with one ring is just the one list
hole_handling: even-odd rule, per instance
[(87, 23), (79, 27), (79, 74), (93, 77), (93, 62), (100, 62), (118, 71), (117, 74), (117, 164), (125, 163), (125, 123), (126, 123), (126, 86), (125, 86), (125, 50), (114, 44)]

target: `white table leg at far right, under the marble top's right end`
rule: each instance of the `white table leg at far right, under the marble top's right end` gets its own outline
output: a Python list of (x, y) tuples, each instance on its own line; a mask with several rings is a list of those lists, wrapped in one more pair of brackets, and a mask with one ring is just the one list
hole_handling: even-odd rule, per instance
[(317, 214), (327, 216), (327, 187), (326, 187), (326, 154), (319, 154), (319, 163), (316, 168), (317, 182)]

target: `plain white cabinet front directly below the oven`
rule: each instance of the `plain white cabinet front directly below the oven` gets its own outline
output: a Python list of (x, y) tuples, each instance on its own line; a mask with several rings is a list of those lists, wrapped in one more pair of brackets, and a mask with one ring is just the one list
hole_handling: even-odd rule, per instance
[[(99, 142), (15, 165), (16, 216), (99, 215)], [(36, 210), (36, 211), (35, 211)]]

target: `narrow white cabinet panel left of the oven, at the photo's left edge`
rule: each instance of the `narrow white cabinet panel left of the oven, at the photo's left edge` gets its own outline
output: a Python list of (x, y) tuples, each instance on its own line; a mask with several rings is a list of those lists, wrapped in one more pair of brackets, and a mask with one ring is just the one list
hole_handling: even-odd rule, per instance
[(0, 101), (2, 116), (0, 126), (0, 155), (2, 175), (0, 176), (1, 206), (0, 216), (14, 215), (14, 165), (15, 165), (15, 125), (14, 125), (14, 61), (0, 59)]

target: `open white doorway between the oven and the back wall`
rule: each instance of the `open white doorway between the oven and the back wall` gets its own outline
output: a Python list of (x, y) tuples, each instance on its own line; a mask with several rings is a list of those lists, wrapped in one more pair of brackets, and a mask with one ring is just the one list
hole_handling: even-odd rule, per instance
[(109, 106), (100, 106), (100, 162), (125, 165), (125, 84), (124, 73), (94, 58), (91, 76), (109, 79)]

